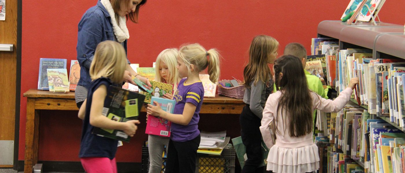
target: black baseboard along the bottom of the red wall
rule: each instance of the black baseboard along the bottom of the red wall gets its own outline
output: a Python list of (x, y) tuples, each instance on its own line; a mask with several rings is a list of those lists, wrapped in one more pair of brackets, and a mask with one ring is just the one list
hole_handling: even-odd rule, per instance
[[(43, 164), (43, 172), (84, 172), (80, 162), (38, 161)], [(141, 173), (141, 163), (118, 162), (118, 173)], [(24, 160), (18, 160), (17, 171), (24, 171)]]

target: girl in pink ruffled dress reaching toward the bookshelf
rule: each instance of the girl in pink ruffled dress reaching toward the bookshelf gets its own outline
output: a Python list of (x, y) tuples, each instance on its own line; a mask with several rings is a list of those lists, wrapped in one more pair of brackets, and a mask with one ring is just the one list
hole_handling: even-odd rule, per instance
[[(358, 78), (352, 78), (335, 100), (326, 100), (307, 86), (301, 60), (281, 56), (274, 62), (277, 92), (271, 94), (263, 110), (260, 131), (267, 147), (267, 170), (274, 173), (307, 173), (319, 169), (318, 147), (313, 143), (314, 109), (337, 112), (349, 101)], [(275, 126), (273, 144), (270, 123)]]

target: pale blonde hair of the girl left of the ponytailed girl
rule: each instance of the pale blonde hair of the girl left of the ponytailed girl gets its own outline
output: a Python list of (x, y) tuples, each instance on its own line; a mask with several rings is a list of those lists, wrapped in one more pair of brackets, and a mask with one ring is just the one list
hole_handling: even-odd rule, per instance
[(168, 68), (168, 79), (166, 83), (173, 84), (173, 89), (177, 88), (177, 83), (180, 81), (179, 71), (177, 70), (177, 55), (179, 54), (179, 50), (176, 48), (165, 49), (156, 58), (156, 77), (155, 81), (164, 82), (162, 76), (159, 73), (159, 65), (161, 62), (165, 63)]

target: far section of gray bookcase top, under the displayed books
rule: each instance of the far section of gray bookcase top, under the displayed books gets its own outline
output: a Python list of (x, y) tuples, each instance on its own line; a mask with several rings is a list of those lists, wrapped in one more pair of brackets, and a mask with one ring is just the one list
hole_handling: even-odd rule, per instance
[(369, 49), (374, 49), (375, 39), (382, 33), (403, 33), (403, 26), (349, 26), (341, 30), (340, 41), (355, 44)]

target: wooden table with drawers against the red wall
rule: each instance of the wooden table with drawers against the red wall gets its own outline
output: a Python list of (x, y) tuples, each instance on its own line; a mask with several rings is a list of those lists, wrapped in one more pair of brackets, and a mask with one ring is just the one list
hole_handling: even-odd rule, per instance
[[(56, 94), (49, 91), (30, 89), (24, 93), (27, 97), (26, 147), (24, 173), (32, 173), (38, 161), (39, 110), (79, 110), (75, 102), (75, 92)], [(245, 106), (240, 99), (225, 96), (204, 98), (200, 113), (240, 114)], [(142, 108), (145, 112), (145, 108)]]

